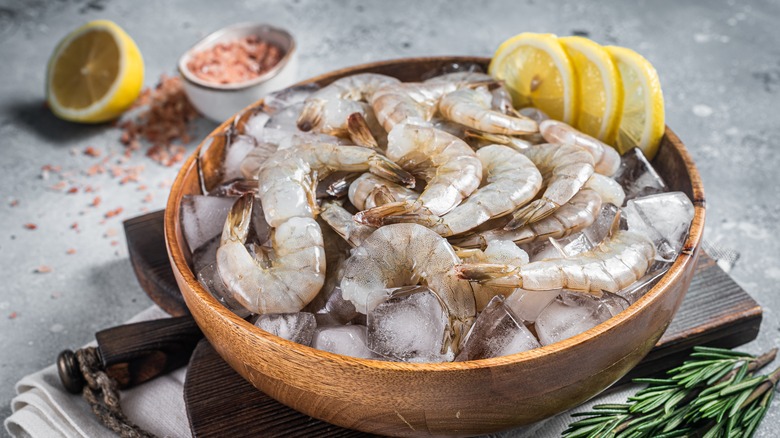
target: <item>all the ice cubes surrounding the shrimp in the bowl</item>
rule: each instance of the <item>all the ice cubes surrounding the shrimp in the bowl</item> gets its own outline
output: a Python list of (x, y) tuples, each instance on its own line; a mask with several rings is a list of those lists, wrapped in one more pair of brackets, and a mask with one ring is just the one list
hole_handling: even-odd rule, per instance
[[(310, 92), (311, 89), (293, 89), (272, 96), (267, 101), (271, 110), (250, 118), (244, 127), (245, 135), (234, 140), (228, 149), (225, 175), (240, 174), (242, 158), (258, 142), (296, 131), (296, 115)], [(615, 215), (621, 211), (623, 227), (645, 234), (656, 245), (656, 261), (644, 278), (601, 297), (569, 290), (510, 289), (505, 296), (496, 296), (487, 303), (470, 331), (455, 346), (447, 345), (446, 310), (436, 293), (424, 286), (378, 290), (384, 298), (367, 315), (358, 313), (351, 302), (344, 300), (335, 284), (326, 287), (328, 290), (323, 290), (302, 312), (251, 315), (232, 299), (216, 267), (220, 234), (236, 199), (230, 195), (240, 194), (240, 186), (228, 184), (218, 188), (219, 197), (186, 196), (182, 225), (193, 254), (192, 266), (202, 285), (224, 306), (273, 335), (360, 358), (410, 362), (476, 360), (553, 344), (587, 331), (637, 301), (666, 273), (687, 237), (694, 214), (691, 201), (681, 192), (669, 192), (639, 149), (623, 155), (614, 178), (625, 191), (625, 205), (604, 204), (590, 227), (562, 239), (524, 245), (523, 249), (530, 261), (561, 257), (561, 252), (574, 256), (588, 251), (607, 236)], [(267, 240), (270, 230), (260, 205), (255, 206), (253, 215), (256, 241)]]

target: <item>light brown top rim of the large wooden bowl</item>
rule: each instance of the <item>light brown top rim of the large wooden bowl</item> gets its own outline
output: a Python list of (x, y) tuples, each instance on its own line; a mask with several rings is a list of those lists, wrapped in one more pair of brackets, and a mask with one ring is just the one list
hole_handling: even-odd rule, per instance
[[(399, 58), (378, 62), (371, 62), (366, 64), (358, 64), (350, 67), (341, 68), (338, 70), (323, 73), (321, 75), (314, 76), (312, 78), (300, 81), (291, 86), (299, 86), (318, 82), (324, 79), (330, 79), (333, 77), (340, 77), (348, 74), (352, 74), (361, 70), (376, 69), (384, 66), (394, 66), (397, 64), (406, 63), (422, 63), (422, 62), (474, 62), (484, 63), (487, 65), (490, 62), (490, 58), (476, 57), (476, 56), (433, 56), (433, 57), (412, 57), (412, 58)], [(571, 338), (555, 342), (550, 345), (545, 345), (533, 350), (528, 350), (520, 353), (515, 353), (507, 356), (499, 356), (488, 359), (471, 360), (464, 362), (440, 362), (440, 363), (409, 363), (409, 362), (390, 362), (376, 359), (362, 359), (351, 356), (343, 356), (335, 353), (330, 353), (324, 350), (318, 350), (313, 347), (298, 344), (288, 341), (286, 339), (272, 335), (253, 324), (238, 317), (236, 314), (228, 310), (221, 303), (219, 303), (208, 291), (206, 291), (190, 269), (189, 264), (184, 256), (182, 245), (176, 240), (175, 227), (179, 221), (180, 216), (180, 202), (182, 198), (182, 190), (184, 185), (184, 175), (193, 169), (196, 164), (197, 157), (204, 143), (214, 135), (219, 135), (225, 132), (230, 127), (234, 119), (243, 114), (245, 111), (259, 106), (263, 99), (247, 106), (243, 110), (230, 117), (228, 120), (220, 124), (209, 135), (207, 135), (203, 141), (198, 145), (195, 151), (187, 158), (182, 168), (176, 175), (171, 186), (171, 192), (168, 197), (168, 202), (165, 209), (165, 242), (168, 248), (168, 255), (173, 260), (176, 269), (179, 271), (181, 277), (187, 283), (193, 294), (204, 302), (206, 307), (213, 311), (216, 316), (233, 326), (236, 330), (246, 330), (250, 335), (264, 339), (265, 341), (276, 343), (282, 347), (289, 348), (296, 353), (313, 356), (319, 360), (327, 360), (332, 362), (338, 362), (344, 365), (354, 366), (358, 368), (368, 368), (383, 371), (417, 371), (417, 372), (451, 372), (471, 369), (488, 369), (494, 367), (505, 366), (509, 364), (517, 364), (521, 362), (530, 362), (541, 356), (554, 356), (562, 353), (564, 350), (574, 347), (575, 345), (587, 342), (590, 339), (596, 338), (612, 330), (616, 326), (623, 324), (625, 321), (630, 320), (637, 315), (644, 307), (648, 306), (651, 302), (659, 299), (659, 297), (670, 289), (671, 285), (678, 281), (685, 272), (685, 267), (694, 263), (695, 252), (699, 248), (701, 243), (701, 237), (704, 231), (704, 216), (705, 216), (705, 198), (704, 189), (702, 186), (701, 177), (699, 175), (693, 160), (688, 153), (687, 149), (677, 137), (677, 135), (666, 126), (664, 137), (669, 143), (679, 152), (680, 157), (683, 160), (685, 168), (690, 175), (691, 187), (693, 199), (691, 200), (694, 205), (694, 218), (691, 223), (690, 234), (683, 244), (683, 250), (680, 256), (675, 260), (672, 266), (669, 268), (666, 274), (659, 280), (659, 282), (653, 286), (644, 296), (629, 306), (626, 310), (618, 313), (607, 321), (598, 324), (590, 330), (584, 331)], [(193, 169), (194, 171), (195, 169)], [(185, 294), (185, 298), (187, 295)], [(185, 302), (187, 300), (185, 299)], [(187, 303), (189, 306), (189, 303)], [(219, 349), (217, 349), (219, 351)]]

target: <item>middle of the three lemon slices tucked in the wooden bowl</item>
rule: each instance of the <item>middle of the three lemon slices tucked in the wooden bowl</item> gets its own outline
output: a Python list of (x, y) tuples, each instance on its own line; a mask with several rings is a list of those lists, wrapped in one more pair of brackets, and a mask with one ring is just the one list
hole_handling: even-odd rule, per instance
[(559, 38), (574, 65), (579, 90), (578, 117), (580, 131), (614, 145), (623, 105), (620, 74), (603, 47), (578, 36)]

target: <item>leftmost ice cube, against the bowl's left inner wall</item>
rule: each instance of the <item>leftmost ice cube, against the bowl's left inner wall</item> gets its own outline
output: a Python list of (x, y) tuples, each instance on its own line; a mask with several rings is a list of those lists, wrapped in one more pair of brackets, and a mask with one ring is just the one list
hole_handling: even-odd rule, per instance
[(184, 238), (195, 251), (214, 236), (222, 233), (234, 197), (186, 195), (181, 201), (181, 224)]

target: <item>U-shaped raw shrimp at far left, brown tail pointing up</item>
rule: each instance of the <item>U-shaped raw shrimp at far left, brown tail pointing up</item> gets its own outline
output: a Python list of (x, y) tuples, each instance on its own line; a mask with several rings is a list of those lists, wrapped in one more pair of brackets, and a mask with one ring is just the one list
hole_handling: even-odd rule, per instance
[(233, 297), (254, 313), (298, 312), (325, 281), (322, 232), (314, 219), (295, 217), (276, 227), (270, 263), (259, 260), (245, 243), (252, 222), (251, 193), (228, 213), (217, 249), (217, 270)]

